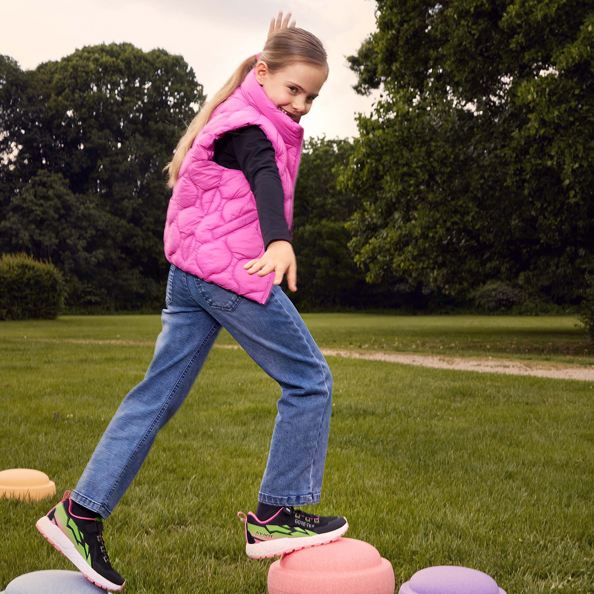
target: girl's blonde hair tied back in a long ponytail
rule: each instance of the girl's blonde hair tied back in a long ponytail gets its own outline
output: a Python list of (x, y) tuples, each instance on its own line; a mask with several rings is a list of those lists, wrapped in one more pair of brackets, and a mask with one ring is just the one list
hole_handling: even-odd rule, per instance
[[(305, 29), (283, 27), (268, 37), (264, 49), (260, 52), (260, 61), (266, 62), (271, 74), (289, 68), (295, 64), (309, 64), (324, 67), (328, 72), (326, 50), (322, 42)], [(214, 109), (225, 101), (241, 85), (244, 78), (257, 64), (256, 55), (245, 59), (231, 75), (214, 97), (204, 103), (202, 109), (192, 119), (175, 148), (173, 159), (163, 168), (169, 172), (168, 188), (173, 188), (178, 180), (179, 169), (198, 132), (206, 125)], [(326, 74), (326, 78), (328, 74)]]

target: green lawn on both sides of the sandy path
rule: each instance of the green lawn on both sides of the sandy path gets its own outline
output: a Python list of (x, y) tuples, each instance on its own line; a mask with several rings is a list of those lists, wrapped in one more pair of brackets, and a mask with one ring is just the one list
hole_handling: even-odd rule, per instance
[[(363, 347), (374, 337), (375, 348), (417, 350), (416, 340), (439, 340), (468, 354), (515, 337), (544, 358), (545, 343), (583, 340), (564, 317), (304, 319), (320, 347)], [(29, 571), (74, 569), (34, 523), (74, 488), (143, 379), (159, 330), (150, 315), (0, 323), (0, 468), (43, 470), (57, 489), (36, 503), (0, 500), (0, 590)], [(388, 347), (394, 336), (402, 344)], [(217, 342), (234, 341), (223, 330)], [(577, 359), (592, 363), (587, 353)], [(420, 568), (453, 564), (485, 571), (508, 594), (594, 593), (592, 382), (327, 361), (334, 407), (322, 497), (304, 509), (345, 514), (346, 536), (390, 560), (396, 592)], [(246, 557), (236, 513), (255, 508), (279, 397), (244, 351), (212, 350), (105, 522), (125, 592), (266, 592), (274, 560)]]

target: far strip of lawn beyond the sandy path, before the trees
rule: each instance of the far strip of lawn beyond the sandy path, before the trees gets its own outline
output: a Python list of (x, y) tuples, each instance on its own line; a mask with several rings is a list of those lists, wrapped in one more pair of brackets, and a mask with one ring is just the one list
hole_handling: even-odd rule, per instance
[[(593, 366), (594, 345), (577, 318), (511, 315), (303, 314), (320, 348), (385, 350), (447, 356), (492, 356)], [(159, 315), (66, 315), (2, 323), (7, 340), (74, 338), (153, 341)], [(223, 330), (220, 344), (235, 343)]]

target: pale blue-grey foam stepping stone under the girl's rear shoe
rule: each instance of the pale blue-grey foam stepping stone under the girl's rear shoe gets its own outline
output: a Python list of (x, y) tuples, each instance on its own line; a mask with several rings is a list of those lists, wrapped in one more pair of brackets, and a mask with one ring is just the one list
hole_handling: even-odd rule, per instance
[(106, 594), (80, 571), (48, 569), (15, 577), (0, 594)]

